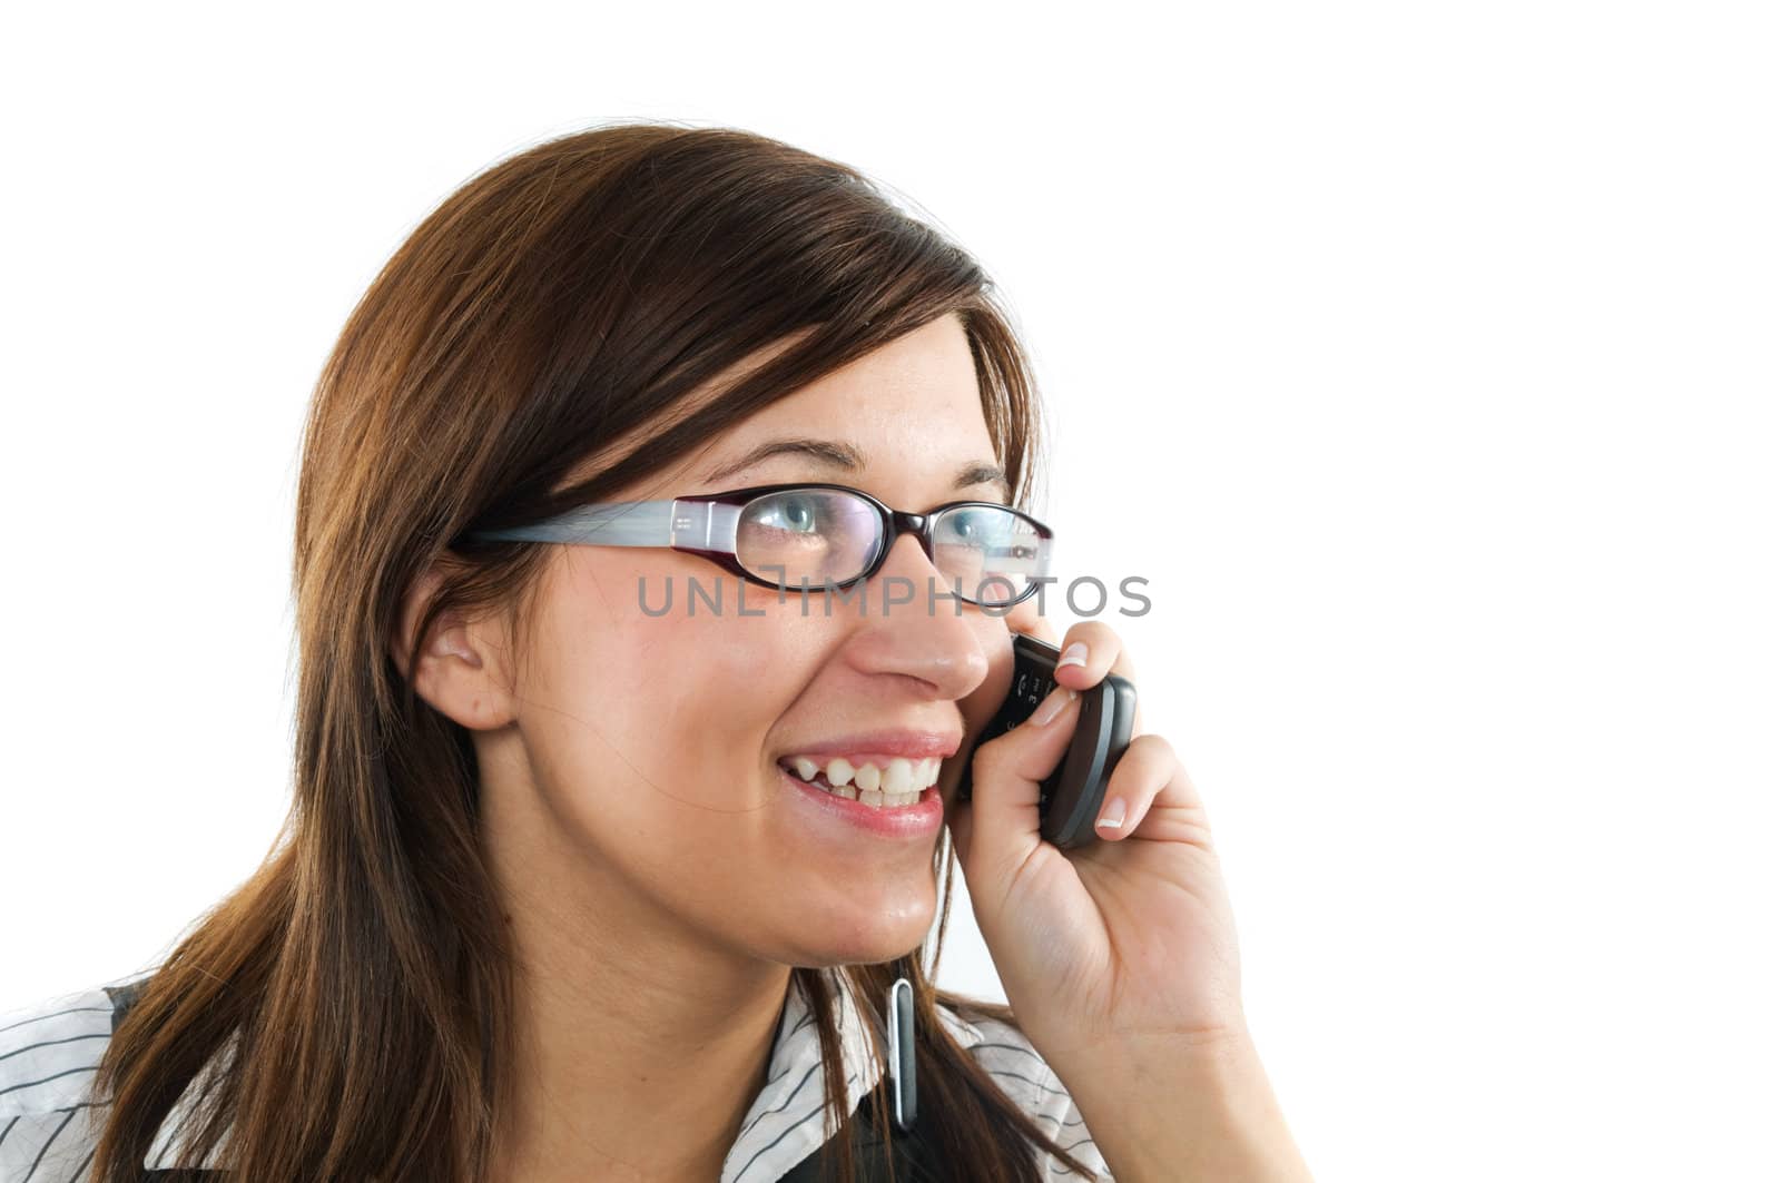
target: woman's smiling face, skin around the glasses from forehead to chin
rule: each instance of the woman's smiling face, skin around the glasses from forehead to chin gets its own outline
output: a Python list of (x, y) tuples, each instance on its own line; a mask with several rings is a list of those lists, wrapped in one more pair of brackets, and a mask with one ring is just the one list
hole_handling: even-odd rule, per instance
[[(778, 440), (857, 463), (810, 449), (746, 461)], [(983, 472), (958, 483), (983, 467), (997, 460), (976, 371), (964, 328), (942, 317), (611, 499), (828, 481), (926, 511), (1003, 501)], [(477, 732), (479, 745), (516, 736), (524, 759), (484, 752), (484, 795), (509, 795), (502, 814), (520, 805), (511, 795), (529, 800), (525, 862), (559, 889), (586, 885), (590, 907), (598, 884), (705, 941), (791, 966), (907, 953), (937, 907), (939, 804), (898, 811), (899, 825), (885, 825), (889, 811), (862, 823), (866, 805), (785, 770), (839, 757), (890, 775), (901, 755), (919, 786), (926, 754), (951, 800), (1008, 686), (1008, 620), (947, 599), (930, 611), (930, 577), (949, 586), (905, 534), (864, 586), (864, 615), (857, 595), (825, 615), (821, 593), (780, 597), (691, 554), (556, 547), (513, 672), (516, 729)], [(707, 597), (691, 615), (689, 581)]]

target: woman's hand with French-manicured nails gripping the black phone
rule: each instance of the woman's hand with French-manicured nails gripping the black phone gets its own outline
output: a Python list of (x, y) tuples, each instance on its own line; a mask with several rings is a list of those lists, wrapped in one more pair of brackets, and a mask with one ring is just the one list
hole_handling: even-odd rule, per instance
[[(1058, 643), (1035, 613), (1015, 609), (1008, 627)], [(1102, 820), (1115, 800), (1124, 820), (1069, 852), (1038, 834), (1038, 786), (1063, 757), (1079, 711), (1070, 691), (1108, 672), (1136, 682), (1104, 624), (1072, 625), (1061, 647), (1074, 643), (1086, 645), (1085, 665), (1060, 665), (1058, 689), (1033, 718), (976, 750), (972, 800), (947, 807), (1008, 1003), (1047, 1060), (1152, 1039), (1247, 1039), (1236, 923), (1206, 807), (1168, 741), (1142, 734), (1142, 707), (1102, 802)], [(1035, 722), (1063, 698), (1049, 722)]]

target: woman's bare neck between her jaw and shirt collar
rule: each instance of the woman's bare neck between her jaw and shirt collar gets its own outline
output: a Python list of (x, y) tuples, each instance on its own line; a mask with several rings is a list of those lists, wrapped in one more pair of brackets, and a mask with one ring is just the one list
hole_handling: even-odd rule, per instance
[(791, 969), (714, 946), (538, 821), (484, 828), (515, 953), (500, 1178), (709, 1183), (766, 1081)]

